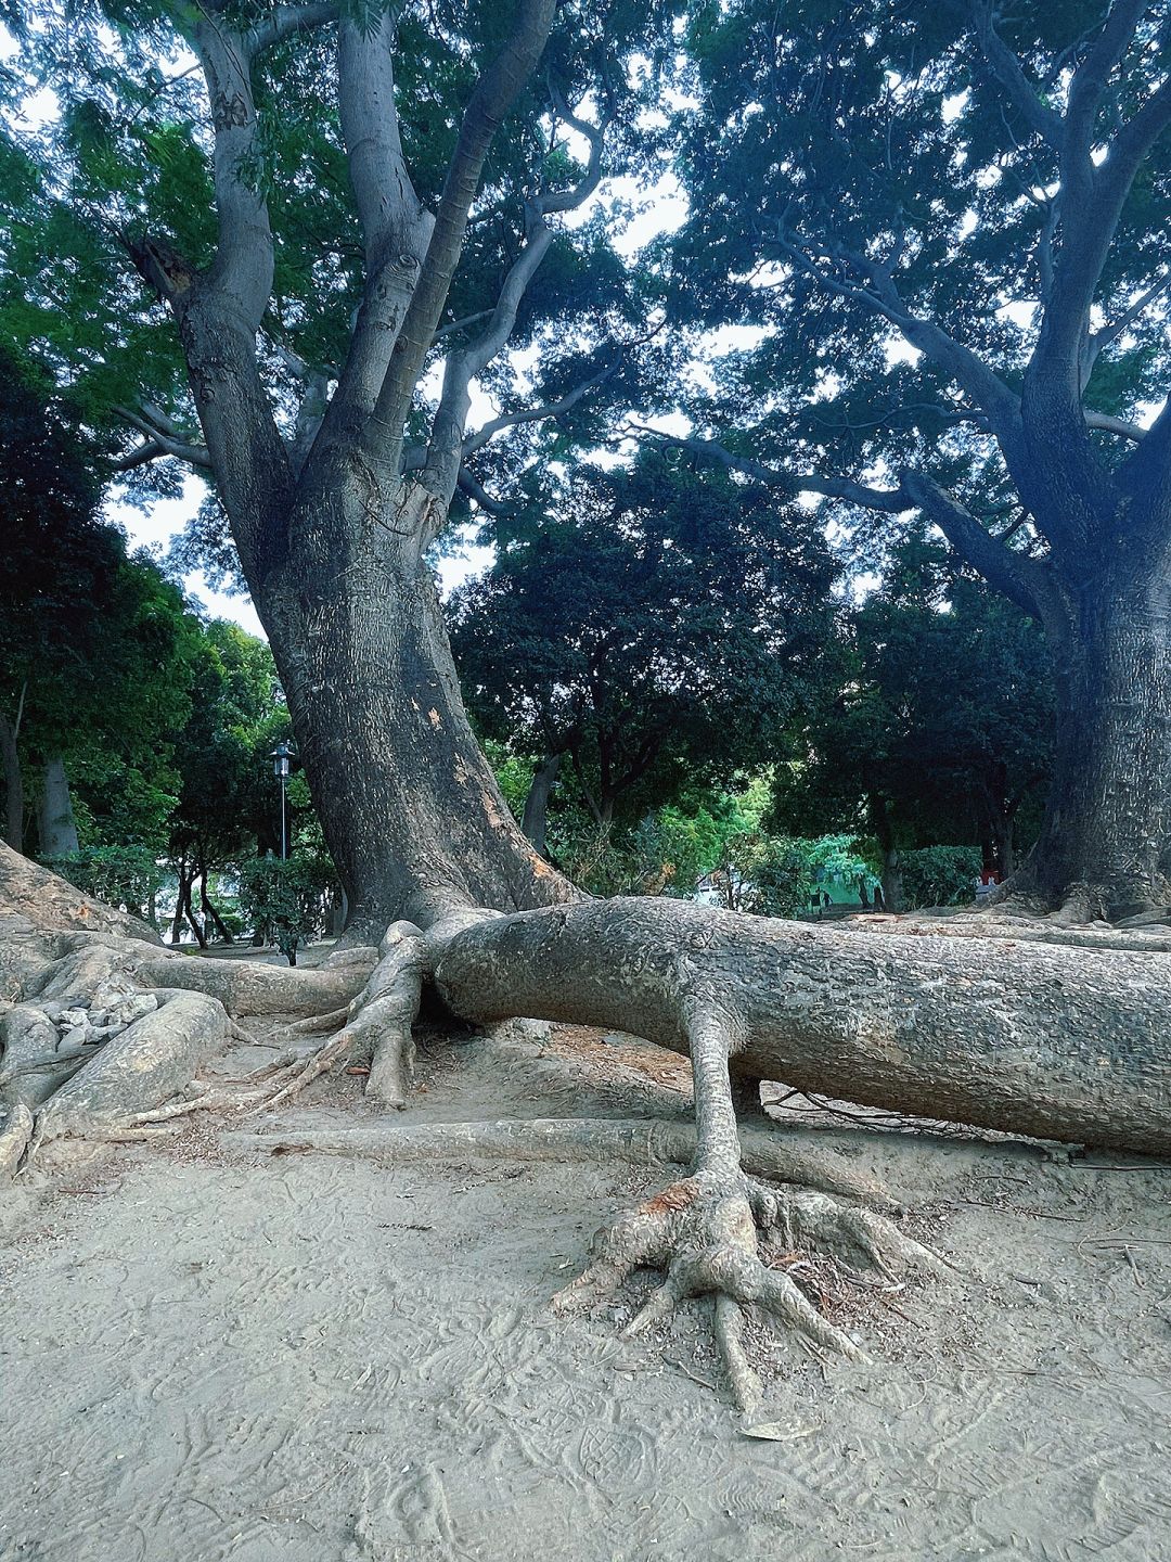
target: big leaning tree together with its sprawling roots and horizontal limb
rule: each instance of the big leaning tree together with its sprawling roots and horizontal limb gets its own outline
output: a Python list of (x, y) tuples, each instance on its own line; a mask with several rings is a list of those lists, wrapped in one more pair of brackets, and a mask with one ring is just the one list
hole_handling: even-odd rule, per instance
[[(536, 67), (554, 14), (559, 33), (542, 78)], [(3, 908), (23, 918), (27, 929), (11, 947), (0, 943), (6, 984), (30, 1000), (47, 992), (89, 995), (92, 1012), (106, 1001), (111, 978), (117, 975), (120, 984), (133, 975), (162, 998), (95, 1057), (80, 1061), (64, 1082), (56, 1026), (45, 1009), (30, 1001), (5, 1012), (0, 1089), (8, 1112), (0, 1167), (56, 1139), (141, 1132), (192, 1111), (184, 1090), (195, 1068), (233, 1034), (226, 1007), (301, 1012), (319, 1025), (342, 1025), (309, 1057), (295, 1057), (278, 1073), (273, 1103), (290, 1100), (340, 1057), (367, 1056), (370, 1093), (403, 1104), (411, 1025), (425, 986), (448, 1012), (476, 1023), (521, 1012), (631, 1026), (690, 1053), (692, 1170), (600, 1239), (598, 1262), (562, 1296), (562, 1306), (589, 1304), (639, 1265), (664, 1268), (667, 1281), (634, 1320), (635, 1331), (685, 1295), (714, 1293), (729, 1376), (737, 1398), (748, 1403), (757, 1385), (745, 1350), (745, 1306), (760, 1306), (810, 1339), (857, 1354), (792, 1276), (762, 1262), (757, 1223), (784, 1229), (788, 1242), (820, 1245), (879, 1268), (935, 1261), (885, 1215), (823, 1192), (892, 1207), (848, 1167), (773, 1147), (763, 1165), (790, 1187), (770, 1187), (746, 1172), (731, 1068), (932, 1115), (1169, 1150), (1162, 968), (1148, 968), (1137, 981), (1130, 964), (1119, 967), (1118, 959), (1099, 954), (1094, 962), (1082, 961), (1093, 964), (1093, 978), (1079, 979), (1077, 958), (1029, 948), (1026, 940), (1010, 961), (991, 962), (985, 950), (960, 939), (909, 939), (902, 948), (892, 940), (879, 948), (885, 940), (877, 936), (870, 942), (856, 942), (856, 934), (818, 936), (818, 929), (751, 922), (678, 900), (581, 901), (504, 812), (467, 726), (423, 555), (447, 517), (464, 461), (484, 434), (465, 436), (470, 383), (520, 320), (523, 284), (553, 245), (550, 219), (579, 200), (598, 173), (596, 156), (590, 167), (568, 170), (532, 127), (542, 112), (545, 125), (551, 123), (551, 106), (557, 125), (571, 123), (600, 156), (596, 125), (578, 114), (567, 119), (564, 103), (584, 109), (587, 86), (595, 87), (595, 103), (606, 103), (609, 67), (648, 25), (642, 8), (637, 16), (617, 6), (607, 11), (604, 31), (595, 31), (596, 11), (579, 16), (553, 0), (467, 11), (428, 6), (404, 11), (398, 28), (389, 16), (368, 11), (361, 17), (342, 12), (334, 23), (334, 11), (317, 3), (290, 9), (212, 5), (176, 9), (173, 19), (119, 6), (116, 16), (117, 28), (86, 30), (70, 11), (64, 45), (73, 69), (101, 56), (91, 83), (98, 103), (87, 122), (89, 130), (97, 122), (100, 134), (87, 130), (84, 158), (78, 153), (77, 162), (64, 148), (55, 187), (69, 186), (78, 169), (72, 197), (81, 201), (92, 192), (98, 208), (117, 216), (131, 234), (136, 262), (178, 323), (205, 440), (194, 445), (190, 430), (170, 411), (156, 417), (150, 406), (128, 409), (145, 425), (145, 444), (128, 459), (141, 464), (180, 451), (214, 473), (269, 628), (334, 856), (345, 883), (362, 895), (362, 925), (397, 920), (378, 951), (320, 972), (187, 961), (136, 942), (142, 929), (120, 918), (117, 931), (106, 934), (112, 914), (103, 920), (100, 909), (78, 903), (61, 881), (0, 848)], [(166, 156), (159, 158), (136, 130), (133, 148), (155, 161), (131, 181), (119, 161), (120, 133), (111, 131), (114, 119), (101, 102), (101, 94), (109, 97), (137, 73), (134, 91), (119, 106), (136, 105), (136, 125), (150, 119), (158, 94), (144, 80), (147, 59), (167, 58), (175, 48), (172, 27), (183, 31), (201, 67), (211, 109), (217, 212), (211, 241), (200, 231), (198, 209), (176, 201), (184, 181), (172, 186), (166, 172), (169, 164), (203, 169), (200, 136), (183, 130), (161, 136)], [(333, 55), (315, 42), (325, 27), (336, 27), (336, 78)], [(109, 58), (112, 39), (126, 39), (125, 61)], [(61, 42), (47, 27), (33, 31), (30, 47), (52, 53)], [(403, 67), (398, 83), (393, 67)], [(334, 81), (336, 97), (325, 91)], [(400, 100), (401, 89), (412, 89), (404, 102), (414, 111), (414, 120), (406, 119), (415, 127), (411, 134), (400, 134), (395, 84)], [(284, 300), (273, 291), (281, 273), (272, 219), (289, 219), (304, 203), (297, 158), (308, 152), (297, 137), (264, 139), (261, 125), (272, 123), (276, 105), (289, 109), (309, 102), (314, 112), (306, 112), (304, 123), (328, 120), (325, 131), (333, 120), (320, 105), (339, 106), (333, 153), (325, 131), (317, 141), (309, 137), (308, 152), (339, 172), (345, 156), (361, 230), (350, 266), (361, 266), (362, 281), (354, 298), (347, 286), (351, 269), (326, 248), (314, 284), (334, 331), (356, 301), (354, 325), (333, 376), (325, 353), (298, 355), (312, 394), (294, 415), (270, 395), (278, 370), (258, 341), (267, 320), (275, 344), (292, 350), (284, 341)], [(498, 137), (514, 108), (520, 117)], [(158, 114), (156, 108), (156, 120)], [(78, 112), (70, 125), (86, 128)], [(434, 186), (434, 217), (408, 173), (415, 133), (423, 166), (436, 148), (447, 161)], [(492, 164), (489, 153), (500, 147), (509, 158)], [(526, 186), (507, 177), (520, 153), (534, 166)], [(556, 183), (539, 178), (537, 167), (542, 175), (556, 173)], [(156, 223), (147, 230), (145, 208), (155, 206), (156, 194)], [(440, 339), (440, 351), (448, 351), (443, 389), (437, 408), (428, 406), (420, 387), (436, 336), (445, 330), (443, 309), (478, 194), (486, 219), (473, 237), (503, 231), (514, 247), (481, 272), (481, 281), (486, 273), (497, 281), (487, 305), (482, 294), (478, 300), (487, 309), (481, 334), (456, 348), (450, 344), (457, 331)], [(526, 209), (523, 239), (511, 225), (497, 226), (498, 195), (504, 211)], [(192, 241), (186, 248), (181, 228)], [(353, 233), (354, 225), (339, 231)], [(295, 320), (303, 300), (297, 289), (294, 295), (289, 317)], [(590, 303), (596, 311), (596, 300)], [(314, 323), (317, 331), (306, 330), (309, 341), (298, 345), (320, 347), (329, 336), (320, 317)], [(564, 341), (567, 333), (553, 334)], [(275, 356), (286, 366), (284, 356)], [(515, 422), (565, 409), (601, 373), (595, 367), (557, 401), (504, 417)], [(520, 906), (532, 909), (514, 909)], [(94, 926), (103, 934), (86, 931)], [(941, 981), (941, 970), (957, 979)], [(1027, 1059), (1021, 1057), (1026, 1034), (1045, 1043)], [(1113, 1048), (1109, 1073), (1102, 1034)], [(1004, 1068), (1005, 1054), (1020, 1059), (1012, 1073)], [(39, 1093), (36, 1109), (25, 1098), (30, 1064), (48, 1082), (48, 1098)], [(534, 1132), (539, 1137), (542, 1129)], [(642, 1132), (650, 1132), (645, 1125)], [(596, 1129), (596, 1142), (610, 1143), (612, 1129)], [(803, 1181), (818, 1192), (792, 1187)]]

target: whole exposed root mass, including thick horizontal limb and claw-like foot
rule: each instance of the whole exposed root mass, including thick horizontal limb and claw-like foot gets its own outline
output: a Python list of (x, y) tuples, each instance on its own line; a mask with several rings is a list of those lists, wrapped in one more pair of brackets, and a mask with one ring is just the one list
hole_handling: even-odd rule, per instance
[[(395, 923), (376, 956), (348, 953), (333, 967), (298, 972), (186, 959), (106, 928), (37, 939), (27, 920), (8, 920), (16, 931), (0, 939), (0, 986), (16, 1003), (0, 1023), (0, 1172), (53, 1139), (167, 1134), (200, 1106), (222, 1104), (192, 1081), (242, 1034), (228, 1011), (298, 1015), (300, 1029), (317, 1034), (345, 1020), (311, 1053), (265, 1070), (270, 1106), (295, 1100), (343, 1059), (368, 1061), (370, 1093), (401, 1106), (411, 1026), (428, 987), (473, 1025), (564, 1020), (689, 1053), (693, 1132), (542, 1122), (392, 1136), (379, 1125), (365, 1139), (354, 1131), (333, 1142), (322, 1134), (254, 1142), (395, 1159), (495, 1145), (514, 1157), (687, 1164), (685, 1178), (598, 1237), (595, 1262), (561, 1304), (589, 1304), (639, 1265), (662, 1270), (664, 1284), (635, 1331), (687, 1295), (714, 1295), (714, 1328), (740, 1403), (756, 1393), (745, 1307), (820, 1346), (857, 1350), (795, 1275), (768, 1264), (770, 1242), (884, 1275), (938, 1270), (941, 1261), (876, 1212), (892, 1201), (852, 1167), (779, 1131), (760, 1136), (768, 1145), (753, 1134), (742, 1142), (729, 1070), (921, 1117), (1171, 1153), (1171, 961), (1149, 953), (1149, 934), (1135, 934), (1137, 945), (1127, 939), (1141, 954), (1099, 942), (1087, 959), (1085, 934), (1074, 934), (1076, 948), (1060, 948), (1054, 934), (1062, 940), (1070, 929), (977, 918), (887, 923), (871, 937), (681, 901), (593, 901), (511, 917), (448, 908), (428, 928)], [(918, 936), (888, 937), (895, 929)], [(843, 1196), (860, 1204), (837, 1203)]]

